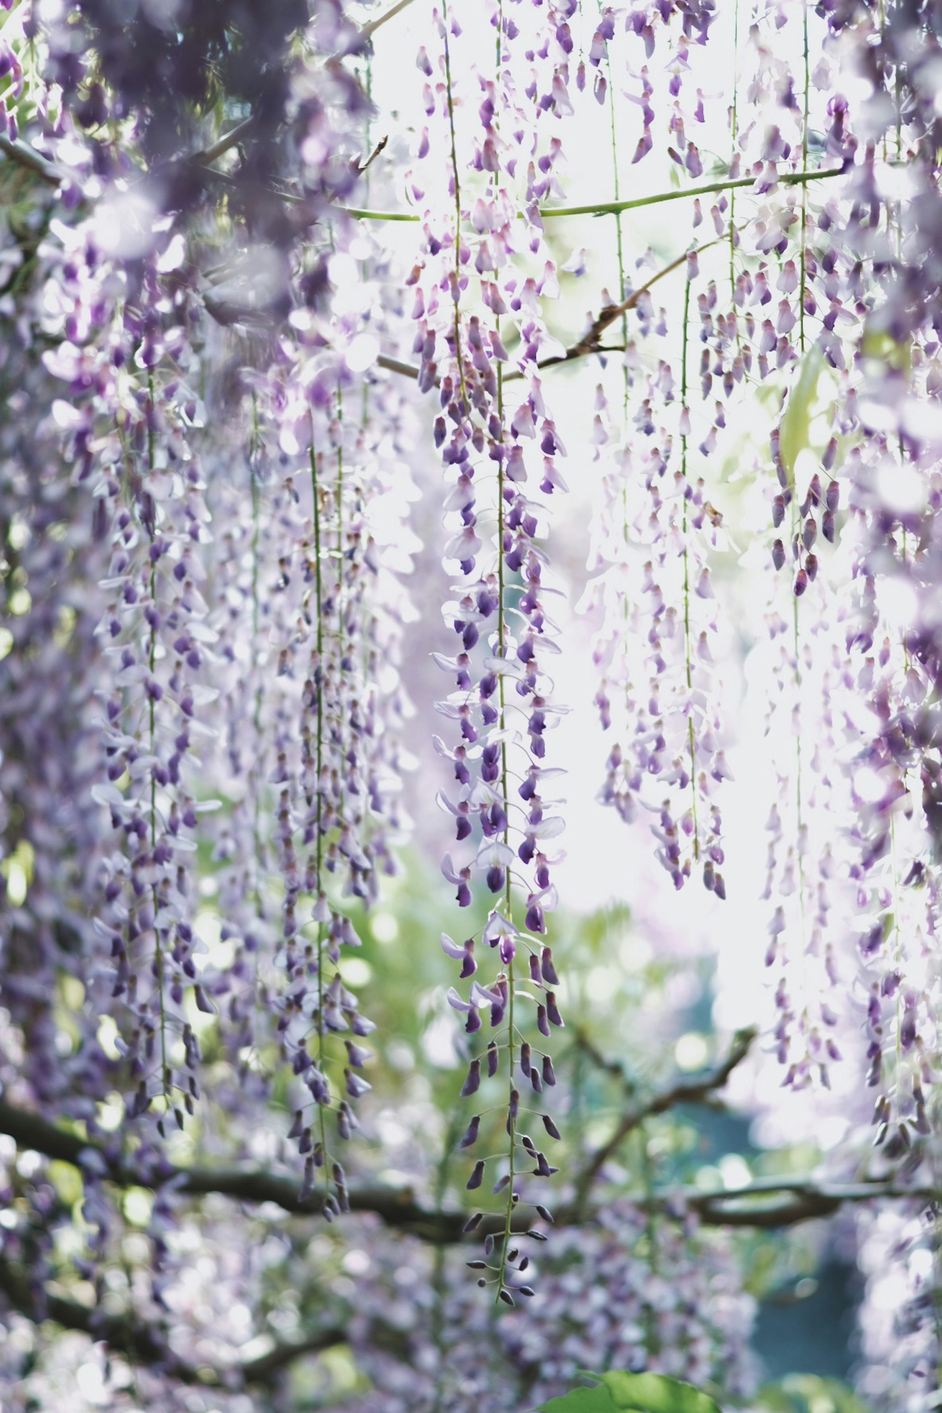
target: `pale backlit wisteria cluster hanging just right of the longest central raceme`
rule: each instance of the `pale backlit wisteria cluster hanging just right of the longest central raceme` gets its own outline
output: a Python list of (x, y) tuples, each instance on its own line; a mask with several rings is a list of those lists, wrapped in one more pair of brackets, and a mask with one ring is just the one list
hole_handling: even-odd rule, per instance
[[(651, 57), (661, 16), (633, 16), (624, 28), (634, 34)], [(671, 16), (664, 16), (667, 27)], [(699, 17), (699, 38), (706, 35), (709, 16)], [(669, 59), (669, 155), (691, 177), (702, 175), (696, 144), (686, 129), (703, 122), (703, 100), (688, 110), (684, 75), (688, 71), (688, 42), (693, 17), (684, 14), (681, 32), (665, 28)], [(590, 64), (597, 68), (596, 97), (604, 102), (603, 59), (609, 71), (621, 54), (616, 45), (614, 18), (606, 11), (593, 38)], [(644, 134), (634, 161), (652, 147), (654, 88), (648, 69), (641, 69)], [(634, 97), (634, 95), (628, 95)], [(617, 90), (612, 88), (613, 178), (616, 205), (620, 195), (619, 153), (614, 146)], [(700, 223), (699, 202), (695, 226)], [(719, 209), (716, 229), (723, 229)], [(710, 242), (709, 244), (716, 244)], [(696, 868), (705, 886), (726, 896), (722, 873), (722, 818), (717, 788), (730, 776), (725, 756), (719, 709), (722, 684), (712, 673), (717, 634), (717, 605), (712, 582), (712, 561), (726, 548), (722, 513), (710, 499), (706, 480), (695, 476), (695, 458), (708, 465), (716, 449), (717, 428), (726, 425), (723, 403), (710, 408), (713, 425), (696, 441), (689, 396), (696, 382), (695, 349), (698, 326), (693, 318), (693, 287), (700, 280), (698, 247), (633, 290), (628, 283), (621, 229), (619, 252), (619, 309), (624, 346), (621, 421), (619, 430), (604, 391), (596, 400), (593, 441), (612, 458), (604, 478), (604, 503), (599, 513), (590, 569), (600, 571), (586, 599), (586, 608), (602, 619), (593, 663), (600, 682), (596, 705), (603, 729), (616, 723), (617, 742), (609, 752), (606, 780), (599, 794), (631, 824), (644, 810), (655, 817), (658, 862), (674, 886)], [(643, 256), (638, 267), (645, 263)], [(682, 300), (679, 341), (669, 341), (668, 315), (657, 308), (655, 288), (662, 274), (684, 266), (686, 284)], [(696, 294), (699, 342), (703, 353), (700, 384), (708, 397), (715, 372), (723, 376), (723, 394), (733, 390), (732, 355), (736, 315), (716, 309), (716, 283)], [(637, 321), (637, 324), (636, 324)], [(637, 342), (637, 333), (641, 342)], [(657, 343), (655, 343), (657, 339)], [(679, 349), (676, 343), (679, 342)], [(657, 350), (657, 352), (655, 352)], [(713, 355), (713, 356), (710, 356)], [(675, 362), (679, 356), (679, 367)], [(725, 373), (725, 365), (730, 370)], [(741, 379), (741, 362), (739, 374)], [(696, 447), (696, 449), (695, 449)]]

